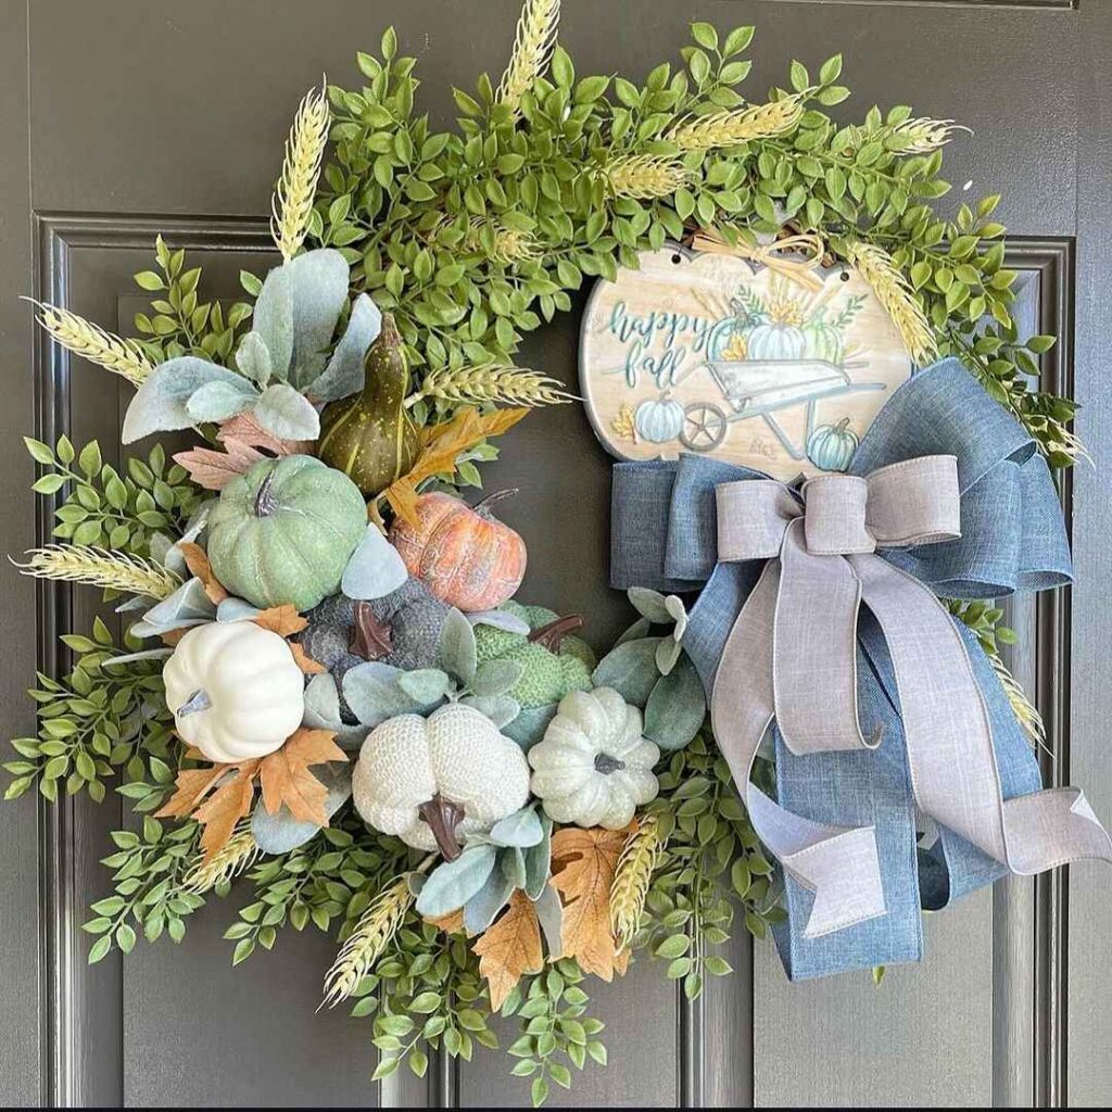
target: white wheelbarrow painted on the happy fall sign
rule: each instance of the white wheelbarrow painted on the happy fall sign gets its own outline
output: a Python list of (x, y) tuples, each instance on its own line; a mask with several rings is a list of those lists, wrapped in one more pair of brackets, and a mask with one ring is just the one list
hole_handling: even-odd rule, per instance
[[(729, 404), (731, 411), (713, 401), (693, 401), (684, 407), (679, 440), (692, 451), (712, 451), (725, 439), (726, 430), (734, 421), (761, 417), (793, 459), (805, 459), (805, 446), (815, 427), (817, 401), (842, 394), (887, 389), (884, 383), (854, 383), (846, 369), (861, 364), (840, 366), (823, 359), (708, 359), (693, 367), (688, 374), (705, 367)], [(774, 416), (798, 405), (807, 407), (803, 447), (792, 443)]]

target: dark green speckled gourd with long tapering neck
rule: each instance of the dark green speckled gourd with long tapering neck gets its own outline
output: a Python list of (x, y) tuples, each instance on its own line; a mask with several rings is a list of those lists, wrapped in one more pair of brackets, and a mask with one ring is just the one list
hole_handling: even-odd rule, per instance
[(325, 407), (317, 445), (317, 455), (349, 475), (368, 498), (405, 475), (417, 458), (417, 428), (405, 406), (408, 394), (405, 345), (387, 312), (367, 353), (363, 389)]

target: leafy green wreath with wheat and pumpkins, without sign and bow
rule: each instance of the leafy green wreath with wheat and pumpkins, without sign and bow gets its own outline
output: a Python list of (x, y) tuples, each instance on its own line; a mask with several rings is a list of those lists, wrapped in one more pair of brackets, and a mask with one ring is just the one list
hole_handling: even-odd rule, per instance
[[(63, 638), (72, 671), (39, 676), (38, 736), (6, 766), (9, 797), (50, 802), (118, 777), (138, 816), (112, 835), (90, 961), (180, 941), (242, 874), (232, 961), (286, 926), (335, 932), (325, 1000), (373, 1016), (376, 1076), (495, 1046), (500, 1012), (535, 1103), (606, 1061), (587, 975), (644, 947), (694, 997), (729, 972), (736, 909), (758, 936), (786, 913), (705, 722), (689, 596), (634, 585), (636, 620), (597, 658), (578, 616), (517, 598), (526, 543), (497, 495), (464, 497), (500, 434), (574, 400), (514, 366), (520, 335), (639, 250), (787, 227), (861, 270), (920, 363), (959, 357), (1052, 466), (1080, 450), (1072, 405), (1025, 386), (1053, 340), (1016, 335), (996, 199), (931, 208), (949, 121), (838, 126), (838, 57), (747, 103), (752, 28), (693, 24), (684, 64), (643, 86), (577, 79), (558, 9), (526, 0), (500, 81), (455, 90), (455, 130), (415, 115), (393, 31), (358, 56), (361, 88), (307, 96), (274, 198), (281, 262), (242, 275), (250, 300), (203, 301), (159, 239), (135, 338), (39, 307), (137, 388), (126, 443), (197, 443), (116, 468), (96, 443), (28, 440), (57, 524), (23, 569), (103, 588), (125, 632)], [(1037, 735), (1001, 612), (952, 608)], [(771, 762), (754, 777), (774, 793)]]

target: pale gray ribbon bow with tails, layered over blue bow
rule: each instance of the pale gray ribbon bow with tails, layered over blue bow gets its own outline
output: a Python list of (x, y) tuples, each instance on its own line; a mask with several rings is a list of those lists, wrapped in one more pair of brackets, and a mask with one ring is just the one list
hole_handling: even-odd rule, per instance
[(1112, 861), (1112, 838), (1076, 788), (1005, 801), (992, 727), (965, 644), (934, 593), (876, 554), (961, 536), (957, 461), (921, 456), (865, 478), (822, 475), (801, 495), (772, 479), (717, 487), (718, 559), (766, 559), (726, 642), (714, 733), (756, 832), (815, 893), (817, 937), (885, 912), (873, 827), (793, 815), (749, 783), (773, 718), (795, 754), (874, 748), (857, 717), (864, 602), (884, 634), (920, 808), (1012, 872)]

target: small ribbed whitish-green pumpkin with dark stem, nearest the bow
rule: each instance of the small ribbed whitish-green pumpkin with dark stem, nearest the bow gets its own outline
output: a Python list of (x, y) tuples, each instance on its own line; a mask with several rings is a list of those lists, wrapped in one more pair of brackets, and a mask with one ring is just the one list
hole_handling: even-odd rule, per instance
[(529, 749), (529, 786), (548, 817), (620, 830), (655, 798), (661, 751), (641, 727), (641, 711), (610, 687), (565, 695), (544, 739)]

